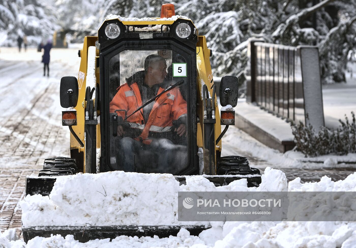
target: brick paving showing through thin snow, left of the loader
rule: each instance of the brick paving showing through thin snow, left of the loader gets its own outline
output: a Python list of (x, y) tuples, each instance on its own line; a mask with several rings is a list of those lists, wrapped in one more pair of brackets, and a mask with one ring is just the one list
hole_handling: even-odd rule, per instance
[[(37, 174), (47, 157), (69, 155), (65, 147), (69, 144), (69, 130), (58, 125), (61, 112), (54, 108), (53, 112), (45, 113), (48, 106), (55, 104), (53, 93), (58, 93), (58, 84), (48, 82), (29, 109), (1, 122), (0, 143), (5, 149), (0, 150), (4, 166), (0, 170), (0, 231), (16, 228), (21, 234), (19, 201), (23, 198), (26, 175)], [(42, 113), (45, 119), (41, 118)]]

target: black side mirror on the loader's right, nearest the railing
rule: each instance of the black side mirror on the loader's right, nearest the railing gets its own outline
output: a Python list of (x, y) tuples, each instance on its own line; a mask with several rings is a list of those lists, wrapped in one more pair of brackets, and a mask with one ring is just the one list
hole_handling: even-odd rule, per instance
[(222, 77), (219, 94), (221, 106), (231, 105), (236, 107), (239, 97), (239, 79), (235, 76)]

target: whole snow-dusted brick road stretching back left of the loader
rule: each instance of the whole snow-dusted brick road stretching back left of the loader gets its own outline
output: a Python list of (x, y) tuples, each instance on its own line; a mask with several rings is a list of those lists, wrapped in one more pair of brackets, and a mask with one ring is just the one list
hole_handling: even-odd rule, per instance
[[(42, 64), (33, 61), (35, 49), (16, 55), (12, 48), (0, 54), (0, 231), (16, 228), (21, 235), (21, 207), (26, 175), (38, 174), (43, 160), (69, 155), (69, 130), (61, 125), (59, 82), (76, 75), (77, 68), (60, 61), (54, 50), (51, 77), (42, 76)], [(14, 53), (14, 56), (10, 56)], [(6, 57), (8, 56), (8, 57)], [(16, 61), (18, 56), (23, 60)], [(5, 58), (4, 58), (5, 57)]]

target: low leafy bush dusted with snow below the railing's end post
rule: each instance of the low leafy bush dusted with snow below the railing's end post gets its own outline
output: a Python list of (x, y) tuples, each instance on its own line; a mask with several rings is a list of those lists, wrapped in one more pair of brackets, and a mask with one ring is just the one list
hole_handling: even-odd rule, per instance
[(292, 123), (292, 132), (295, 137), (297, 150), (306, 157), (315, 157), (329, 153), (345, 155), (356, 152), (356, 122), (355, 113), (352, 114), (352, 122), (345, 115), (345, 122), (339, 120), (341, 126), (336, 130), (330, 130), (321, 126), (316, 132), (312, 125), (304, 125), (302, 122)]

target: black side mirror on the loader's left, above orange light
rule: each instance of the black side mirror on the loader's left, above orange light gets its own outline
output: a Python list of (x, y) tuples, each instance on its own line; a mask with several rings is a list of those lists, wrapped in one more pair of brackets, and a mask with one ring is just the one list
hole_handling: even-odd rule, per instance
[(78, 81), (76, 77), (66, 76), (61, 78), (59, 98), (63, 108), (75, 107), (78, 102)]

